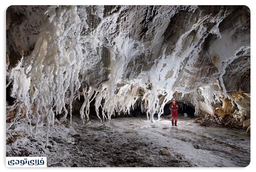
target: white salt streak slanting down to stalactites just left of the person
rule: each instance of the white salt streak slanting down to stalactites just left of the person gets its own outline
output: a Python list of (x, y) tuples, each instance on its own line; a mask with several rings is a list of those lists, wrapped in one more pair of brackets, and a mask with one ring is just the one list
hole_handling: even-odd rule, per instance
[[(163, 54), (160, 57), (160, 60), (158, 61), (156, 67), (153, 67), (149, 72), (149, 80), (151, 83), (157, 83), (157, 85), (153, 85), (151, 95), (152, 103), (149, 106), (149, 109), (147, 110), (147, 113), (150, 112), (151, 115), (153, 115), (155, 112), (158, 112), (158, 117), (160, 118), (161, 114), (163, 114), (163, 108), (164, 105), (166, 105), (167, 100), (170, 100), (173, 96), (173, 86), (174, 83), (177, 80), (177, 77), (179, 75), (179, 69), (182, 67), (182, 62), (187, 58), (188, 56), (197, 56), (199, 50), (202, 48), (202, 41), (200, 38), (203, 37), (203, 40), (207, 37), (206, 28), (202, 26), (203, 21), (205, 21), (208, 17), (200, 18), (196, 24), (192, 26), (188, 31), (183, 33), (179, 39), (177, 40), (177, 43), (175, 44), (175, 50), (166, 57), (165, 54)], [(194, 29), (198, 29), (196, 34), (196, 43), (193, 44), (194, 46), (189, 47), (188, 50), (184, 51), (182, 48), (182, 41), (183, 39), (189, 35)], [(199, 42), (201, 41), (201, 42)], [(198, 46), (199, 44), (199, 46)], [(166, 52), (166, 48), (164, 48), (164, 53)], [(198, 49), (198, 51), (195, 51), (195, 49)], [(192, 59), (192, 58), (191, 58)], [(193, 59), (195, 60), (195, 59)], [(164, 65), (165, 64), (165, 65)], [(175, 64), (175, 65), (174, 65)], [(191, 62), (191, 64), (193, 64)], [(164, 66), (164, 67), (163, 67)], [(192, 69), (193, 66), (191, 65), (190, 68)], [(154, 75), (155, 73), (161, 73), (162, 76), (165, 76), (163, 78), (160, 78), (159, 76)], [(168, 74), (172, 73), (171, 76)], [(185, 82), (185, 81), (184, 81)], [(157, 90), (163, 90), (167, 94), (165, 95), (165, 99), (163, 104), (159, 107), (159, 100), (157, 98), (158, 92)], [(178, 89), (178, 92), (182, 93), (189, 93), (186, 92), (186, 90)], [(199, 109), (199, 105), (196, 106), (196, 108)], [(151, 122), (153, 122), (153, 116), (150, 118), (152, 119)]]

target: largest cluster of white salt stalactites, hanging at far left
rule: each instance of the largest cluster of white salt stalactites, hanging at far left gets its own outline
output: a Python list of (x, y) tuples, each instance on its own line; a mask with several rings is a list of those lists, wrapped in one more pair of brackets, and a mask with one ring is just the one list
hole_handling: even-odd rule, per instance
[[(86, 11), (79, 10), (86, 14)], [(49, 7), (46, 12), (49, 19), (39, 33), (35, 49), (26, 57), (26, 60), (21, 61), (24, 67), (19, 71), (12, 69), (10, 73), (15, 75), (9, 75), (12, 77), (9, 80), (13, 80), (14, 83), (12, 90), (14, 97), (19, 98), (22, 95), (26, 114), (31, 111), (31, 104), (36, 104), (36, 129), (39, 121), (39, 107), (44, 107), (48, 124), (47, 137), (50, 120), (51, 124), (54, 122), (53, 107), (56, 107), (57, 114), (64, 109), (67, 116), (65, 104), (68, 102), (70, 115), (72, 115), (71, 103), (81, 85), (78, 75), (84, 59), (80, 33), (83, 26), (87, 24), (85, 19), (79, 18), (77, 12), (76, 6)], [(65, 50), (66, 47), (68, 47), (67, 50)], [(29, 90), (30, 96), (27, 95)]]

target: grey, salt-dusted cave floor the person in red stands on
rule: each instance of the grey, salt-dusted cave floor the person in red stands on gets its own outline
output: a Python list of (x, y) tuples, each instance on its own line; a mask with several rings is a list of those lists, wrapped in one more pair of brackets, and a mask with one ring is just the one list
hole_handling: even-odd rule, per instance
[[(178, 117), (178, 126), (171, 126), (169, 120), (152, 124), (146, 117), (115, 118), (110, 123), (90, 119), (83, 125), (75, 115), (72, 128), (68, 124), (69, 119), (57, 121), (47, 148), (43, 123), (36, 136), (10, 128), (7, 137), (17, 139), (6, 145), (6, 156), (46, 156), (49, 167), (244, 167), (250, 163), (250, 136), (244, 130), (200, 126), (191, 118)], [(161, 150), (171, 154), (161, 155)]]

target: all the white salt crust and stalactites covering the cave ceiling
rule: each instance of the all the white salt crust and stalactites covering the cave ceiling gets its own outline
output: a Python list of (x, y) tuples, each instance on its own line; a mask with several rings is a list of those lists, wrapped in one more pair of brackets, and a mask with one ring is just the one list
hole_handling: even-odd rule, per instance
[[(93, 26), (92, 23), (86, 23), (88, 10), (90, 15), (98, 18), (98, 22)], [(129, 10), (128, 6), (116, 7), (104, 16), (104, 6), (50, 6), (45, 13), (47, 22), (42, 25), (42, 29), (38, 35), (34, 50), (31, 55), (22, 59), (19, 64), (8, 71), (8, 84), (13, 82), (11, 96), (17, 98), (18, 101), (24, 103), (26, 107), (26, 116), (35, 113), (37, 132), (38, 122), (40, 120), (39, 110), (43, 109), (46, 114), (47, 121), (47, 139), (50, 127), (54, 124), (54, 115), (64, 113), (64, 117), (70, 115), (70, 125), (72, 125), (72, 102), (80, 95), (84, 97), (84, 102), (80, 109), (80, 117), (83, 123), (89, 120), (90, 103), (95, 100), (96, 115), (100, 121), (110, 122), (111, 116), (120, 113), (130, 113), (135, 106), (140, 106), (142, 112), (146, 112), (147, 120), (154, 122), (153, 115), (158, 114), (158, 118), (164, 112), (164, 106), (173, 98), (175, 91), (182, 93), (182, 97), (186, 93), (195, 92), (193, 102), (195, 105), (195, 115), (200, 114), (200, 104), (197, 98), (200, 97), (199, 92), (195, 91), (197, 87), (187, 90), (188, 77), (185, 74), (180, 76), (181, 69), (193, 71), (193, 65), (199, 58), (199, 52), (203, 43), (209, 34), (217, 34), (218, 38), (210, 47), (209, 56), (212, 57), (219, 52), (221, 59), (216, 63), (218, 74), (220, 76), (221, 86), (226, 94), (223, 80), (225, 68), (234, 60), (234, 53), (241, 50), (242, 42), (230, 45), (230, 52), (224, 52), (227, 48), (224, 46), (223, 40), (230, 40), (234, 31), (221, 33), (218, 26), (223, 21), (223, 14), (228, 15), (223, 9), (218, 15), (211, 18), (209, 14), (189, 19), (191, 27), (185, 27), (178, 35), (177, 42), (174, 43), (173, 51), (169, 53), (167, 44), (164, 44), (164, 33), (168, 28), (170, 18), (178, 11), (175, 7), (171, 7), (166, 13), (159, 13), (153, 17), (155, 8), (147, 9), (145, 16), (146, 26), (156, 29), (152, 36), (150, 45), (148, 42), (139, 39), (133, 39), (129, 33), (129, 27), (122, 28), (118, 22), (124, 21), (124, 11)], [(161, 7), (165, 8), (165, 7)], [(160, 9), (161, 9), (160, 8)], [(188, 11), (195, 11), (196, 6), (181, 7)], [(176, 11), (177, 10), (177, 11)], [(167, 14), (168, 13), (168, 14)], [(137, 15), (132, 13), (131, 15)], [(164, 17), (168, 15), (169, 17)], [(91, 16), (90, 16), (91, 17)], [(131, 16), (130, 16), (131, 17)], [(159, 26), (152, 21), (162, 21)], [(211, 19), (211, 20), (210, 20)], [(132, 20), (132, 18), (125, 18)], [(209, 20), (209, 21), (208, 21)], [(212, 22), (212, 28), (204, 25), (205, 22)], [(157, 27), (157, 28), (156, 28)], [(151, 29), (150, 28), (150, 29)], [(149, 33), (145, 33), (147, 36)], [(144, 35), (144, 36), (145, 36)], [(190, 46), (184, 47), (184, 42), (188, 36)], [(221, 39), (222, 38), (222, 39)], [(163, 43), (159, 48), (159, 54), (154, 54), (156, 47)], [(102, 60), (104, 51), (102, 47), (106, 47), (109, 52), (110, 64), (107, 66), (107, 79), (97, 85), (90, 85), (89, 69), (95, 68)], [(217, 49), (216, 49), (217, 47)], [(248, 47), (243, 47), (249, 49)], [(220, 51), (219, 51), (220, 50)], [(129, 63), (135, 64), (135, 58), (145, 55), (147, 58), (153, 55), (154, 60), (149, 69), (142, 69), (140, 74), (131, 71), (130, 78), (125, 78), (124, 71), (128, 68)], [(184, 61), (187, 61), (185, 64)], [(223, 63), (224, 62), (224, 63)], [(145, 62), (147, 63), (147, 61)], [(174, 65), (175, 64), (175, 65)], [(148, 65), (148, 64), (147, 64)], [(178, 83), (180, 78), (184, 78)], [(211, 81), (210, 81), (211, 82)], [(118, 87), (118, 83), (124, 83)], [(211, 92), (211, 87), (207, 84), (200, 83), (202, 86), (202, 94), (205, 97), (207, 105), (214, 103), (214, 96), (218, 93)], [(138, 96), (138, 90), (143, 90), (143, 95)], [(82, 91), (81, 91), (82, 90)], [(164, 96), (163, 103), (160, 104), (159, 95)], [(31, 111), (31, 105), (35, 105), (35, 112)], [(69, 107), (66, 108), (65, 105)], [(99, 108), (102, 108), (102, 117), (100, 117)], [(244, 111), (244, 110), (243, 110)], [(241, 110), (242, 112), (242, 110)], [(150, 116), (150, 118), (149, 118)], [(46, 142), (47, 145), (47, 142)]]

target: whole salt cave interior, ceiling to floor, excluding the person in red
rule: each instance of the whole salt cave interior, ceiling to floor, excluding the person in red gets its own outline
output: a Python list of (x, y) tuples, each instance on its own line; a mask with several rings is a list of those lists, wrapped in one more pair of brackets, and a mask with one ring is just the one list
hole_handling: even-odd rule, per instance
[(250, 9), (8, 7), (6, 156), (47, 157), (49, 167), (248, 166)]

